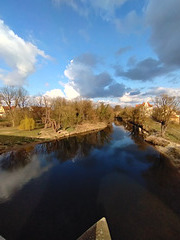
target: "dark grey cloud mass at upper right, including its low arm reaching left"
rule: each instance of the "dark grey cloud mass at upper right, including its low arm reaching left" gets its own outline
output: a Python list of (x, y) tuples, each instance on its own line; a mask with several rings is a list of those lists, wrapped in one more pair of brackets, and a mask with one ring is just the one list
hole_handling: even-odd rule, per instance
[(130, 80), (151, 81), (180, 67), (180, 4), (179, 0), (150, 0), (144, 13), (146, 26), (151, 30), (150, 44), (157, 59), (146, 58), (127, 70), (116, 66), (116, 75)]

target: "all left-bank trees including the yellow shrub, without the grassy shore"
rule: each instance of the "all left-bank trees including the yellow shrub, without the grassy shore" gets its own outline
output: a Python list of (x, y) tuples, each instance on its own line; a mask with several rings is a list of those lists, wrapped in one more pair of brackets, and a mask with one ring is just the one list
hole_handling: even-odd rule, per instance
[[(0, 90), (1, 104), (6, 106), (6, 120), (12, 126), (22, 129), (31, 124), (45, 128), (67, 129), (84, 122), (106, 122), (114, 119), (113, 108), (104, 103), (90, 100), (49, 98), (47, 96), (30, 97), (24, 88), (3, 87)], [(29, 129), (29, 130), (30, 130)]]

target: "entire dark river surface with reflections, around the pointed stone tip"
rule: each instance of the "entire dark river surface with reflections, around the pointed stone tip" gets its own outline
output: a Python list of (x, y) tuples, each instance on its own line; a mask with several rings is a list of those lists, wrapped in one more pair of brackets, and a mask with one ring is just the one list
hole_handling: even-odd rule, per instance
[(73, 240), (103, 216), (113, 240), (180, 239), (180, 175), (122, 126), (0, 156), (7, 240)]

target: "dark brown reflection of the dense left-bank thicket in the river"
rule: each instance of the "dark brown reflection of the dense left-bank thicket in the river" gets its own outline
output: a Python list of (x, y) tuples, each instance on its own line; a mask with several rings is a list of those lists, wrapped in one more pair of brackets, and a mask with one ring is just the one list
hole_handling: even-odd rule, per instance
[(110, 142), (111, 132), (112, 126), (109, 126), (100, 132), (38, 144), (34, 152), (50, 155), (53, 152), (53, 157), (56, 157), (60, 162), (83, 158), (87, 156), (93, 148), (101, 148), (105, 144), (108, 144), (108, 142)]

